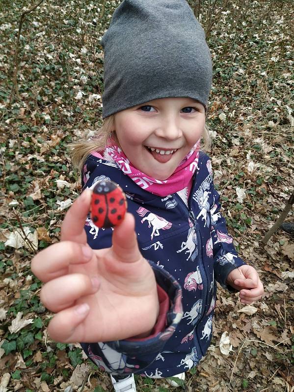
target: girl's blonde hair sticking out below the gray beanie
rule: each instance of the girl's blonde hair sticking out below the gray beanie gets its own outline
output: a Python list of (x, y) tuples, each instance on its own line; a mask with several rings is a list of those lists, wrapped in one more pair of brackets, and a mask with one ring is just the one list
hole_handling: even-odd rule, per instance
[[(114, 130), (114, 115), (107, 117), (98, 130), (97, 136), (92, 140), (81, 140), (80, 142), (71, 143), (69, 147), (71, 147), (70, 155), (72, 157), (72, 162), (75, 168), (81, 172), (82, 167), (84, 165), (85, 160), (90, 155), (92, 151), (103, 151), (107, 146), (107, 140), (111, 140), (119, 145), (119, 142), (116, 137), (116, 133)], [(207, 151), (211, 147), (211, 138), (209, 134), (209, 128), (205, 124), (204, 131), (202, 134), (201, 145), (200, 148), (202, 151)]]

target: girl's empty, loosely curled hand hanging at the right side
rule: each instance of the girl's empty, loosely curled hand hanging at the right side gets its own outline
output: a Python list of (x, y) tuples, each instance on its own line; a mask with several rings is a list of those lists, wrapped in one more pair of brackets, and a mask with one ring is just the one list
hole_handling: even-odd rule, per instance
[(228, 285), (240, 290), (239, 297), (242, 303), (249, 304), (257, 301), (264, 294), (264, 286), (256, 270), (248, 265), (232, 270), (228, 277)]

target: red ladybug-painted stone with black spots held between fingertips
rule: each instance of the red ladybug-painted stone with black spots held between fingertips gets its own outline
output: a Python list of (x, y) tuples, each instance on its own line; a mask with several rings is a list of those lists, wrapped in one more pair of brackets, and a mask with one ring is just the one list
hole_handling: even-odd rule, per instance
[(119, 225), (127, 209), (126, 196), (113, 181), (99, 181), (95, 185), (91, 201), (92, 221), (98, 227)]

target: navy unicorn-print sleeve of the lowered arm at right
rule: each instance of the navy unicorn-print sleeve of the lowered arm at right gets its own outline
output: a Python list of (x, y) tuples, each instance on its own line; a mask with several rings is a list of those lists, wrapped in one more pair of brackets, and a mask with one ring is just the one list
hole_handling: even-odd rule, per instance
[(235, 291), (226, 285), (228, 274), (235, 268), (241, 267), (246, 263), (238, 256), (233, 238), (228, 234), (226, 221), (220, 213), (219, 194), (213, 186), (213, 205), (211, 206), (212, 219), (212, 241), (214, 257), (214, 278), (225, 289)]

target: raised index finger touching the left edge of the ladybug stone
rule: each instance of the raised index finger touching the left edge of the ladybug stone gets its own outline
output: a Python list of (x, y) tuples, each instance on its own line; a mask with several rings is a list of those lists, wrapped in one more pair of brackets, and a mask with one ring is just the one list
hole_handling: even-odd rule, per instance
[(92, 191), (86, 189), (67, 211), (61, 226), (61, 241), (87, 242), (85, 220), (90, 209)]

